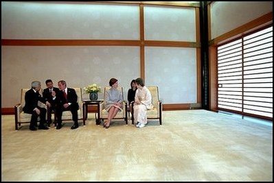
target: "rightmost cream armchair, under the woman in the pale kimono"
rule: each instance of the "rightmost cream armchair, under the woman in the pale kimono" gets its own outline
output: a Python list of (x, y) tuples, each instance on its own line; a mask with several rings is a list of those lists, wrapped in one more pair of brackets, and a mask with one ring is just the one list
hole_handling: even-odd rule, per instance
[[(159, 124), (162, 125), (162, 102), (159, 101), (159, 91), (158, 86), (146, 86), (150, 90), (152, 97), (152, 110), (147, 110), (146, 114), (148, 119), (159, 119)], [(132, 111), (134, 113), (132, 105)], [(131, 117), (132, 124), (134, 124), (134, 115)]]

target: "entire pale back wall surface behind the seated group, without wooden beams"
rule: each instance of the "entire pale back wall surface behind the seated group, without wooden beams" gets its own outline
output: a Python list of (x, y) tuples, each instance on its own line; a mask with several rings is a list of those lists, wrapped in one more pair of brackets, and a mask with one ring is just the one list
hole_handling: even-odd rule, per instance
[[(139, 6), (73, 2), (1, 2), (2, 39), (139, 40)], [(146, 40), (196, 41), (194, 8), (144, 5)], [(124, 87), (141, 75), (140, 47), (2, 46), (2, 108), (20, 101), (33, 80)], [(164, 103), (196, 102), (196, 49), (145, 47), (146, 85), (159, 86)], [(8, 89), (6, 89), (8, 88)], [(178, 90), (181, 92), (179, 93)], [(170, 97), (172, 95), (172, 97)], [(84, 95), (87, 99), (88, 95)], [(99, 95), (102, 98), (102, 94)]]

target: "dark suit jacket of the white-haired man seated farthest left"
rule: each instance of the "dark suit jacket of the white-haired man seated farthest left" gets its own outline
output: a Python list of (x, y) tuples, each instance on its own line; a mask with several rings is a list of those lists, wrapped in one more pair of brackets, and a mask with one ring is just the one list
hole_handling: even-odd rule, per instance
[(26, 113), (32, 113), (34, 108), (38, 107), (38, 101), (45, 103), (45, 99), (40, 95), (40, 93), (35, 93), (32, 88), (27, 90), (25, 93), (25, 106), (23, 107), (23, 111)]

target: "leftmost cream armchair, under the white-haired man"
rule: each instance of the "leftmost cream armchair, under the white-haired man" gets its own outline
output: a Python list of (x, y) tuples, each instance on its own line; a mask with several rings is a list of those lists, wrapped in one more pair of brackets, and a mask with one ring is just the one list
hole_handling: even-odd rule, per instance
[[(32, 114), (27, 114), (23, 112), (23, 107), (25, 106), (25, 93), (27, 92), (27, 90), (30, 90), (30, 88), (21, 89), (21, 102), (14, 106), (15, 130), (19, 130), (18, 127), (21, 126), (22, 123), (30, 123), (32, 119)], [(43, 90), (41, 89), (39, 93), (42, 95)], [(41, 108), (47, 109), (47, 106), (40, 101), (38, 101), (38, 106), (40, 106)], [(47, 119), (47, 115), (46, 115), (46, 119)], [(38, 121), (39, 120), (40, 118), (38, 117)]]

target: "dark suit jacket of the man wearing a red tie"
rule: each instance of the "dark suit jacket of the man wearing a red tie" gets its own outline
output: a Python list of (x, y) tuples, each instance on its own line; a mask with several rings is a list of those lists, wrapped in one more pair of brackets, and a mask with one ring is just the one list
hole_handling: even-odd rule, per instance
[(59, 90), (56, 93), (56, 102), (61, 105), (65, 103), (78, 104), (76, 91), (73, 88), (67, 88), (67, 99), (65, 99), (63, 92)]

